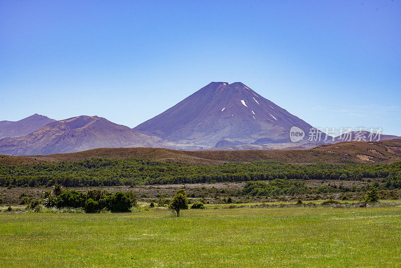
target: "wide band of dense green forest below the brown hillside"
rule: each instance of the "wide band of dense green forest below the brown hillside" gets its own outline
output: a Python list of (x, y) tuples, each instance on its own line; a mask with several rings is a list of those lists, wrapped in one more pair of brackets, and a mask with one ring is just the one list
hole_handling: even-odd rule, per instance
[(387, 189), (401, 188), (401, 162), (388, 165), (310, 164), (279, 162), (186, 166), (138, 159), (91, 159), (27, 166), (0, 165), (1, 187), (120, 186), (239, 182), (274, 179), (361, 180), (382, 178)]

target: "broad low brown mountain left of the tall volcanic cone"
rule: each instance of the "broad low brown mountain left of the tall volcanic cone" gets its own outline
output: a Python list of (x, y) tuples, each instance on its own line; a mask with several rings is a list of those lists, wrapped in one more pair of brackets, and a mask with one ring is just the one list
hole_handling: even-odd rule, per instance
[(95, 148), (161, 147), (160, 139), (98, 116), (77, 116), (51, 122), (26, 136), (0, 140), (0, 154), (48, 155)]

